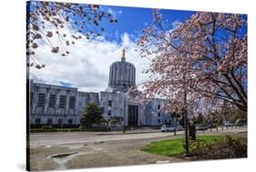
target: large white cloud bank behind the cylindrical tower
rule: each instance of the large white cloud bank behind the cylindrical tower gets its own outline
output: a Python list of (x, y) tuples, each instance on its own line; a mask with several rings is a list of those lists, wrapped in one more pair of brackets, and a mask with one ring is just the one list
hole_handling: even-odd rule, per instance
[(30, 69), (30, 77), (35, 82), (61, 85), (60, 82), (78, 87), (81, 91), (103, 91), (108, 87), (109, 66), (121, 59), (122, 49), (126, 48), (127, 61), (136, 67), (137, 83), (144, 82), (148, 76), (142, 70), (148, 67), (145, 59), (135, 51), (136, 43), (130, 35), (121, 35), (121, 43), (110, 42), (104, 37), (87, 40), (85, 36), (68, 48), (69, 56), (51, 53), (49, 46), (39, 46), (36, 57), (45, 68)]

